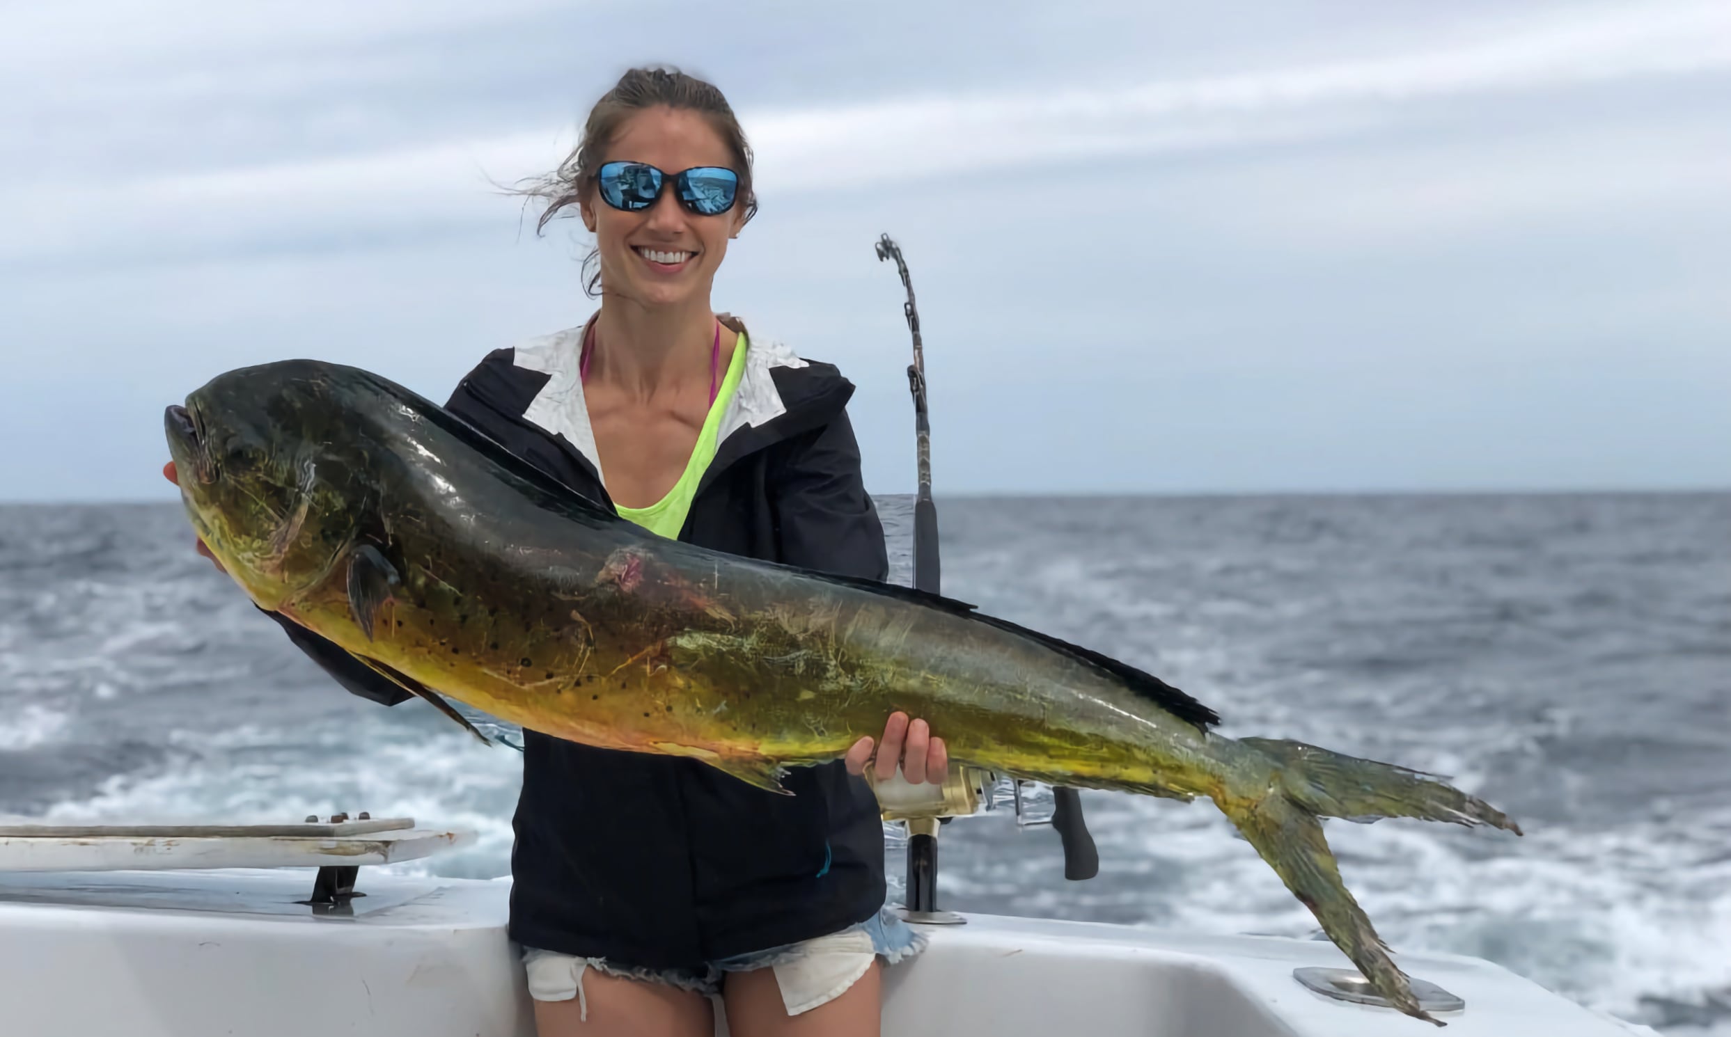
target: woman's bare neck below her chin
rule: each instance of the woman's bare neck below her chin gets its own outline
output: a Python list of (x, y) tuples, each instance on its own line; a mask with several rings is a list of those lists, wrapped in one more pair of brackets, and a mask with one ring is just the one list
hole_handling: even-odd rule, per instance
[(710, 383), (715, 313), (708, 301), (677, 310), (604, 298), (595, 315), (589, 381), (642, 400)]

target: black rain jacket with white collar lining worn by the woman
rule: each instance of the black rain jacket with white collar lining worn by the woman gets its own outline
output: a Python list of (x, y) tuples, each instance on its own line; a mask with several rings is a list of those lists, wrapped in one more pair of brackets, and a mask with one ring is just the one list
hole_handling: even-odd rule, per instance
[[(582, 332), (493, 351), (447, 407), (613, 507), (576, 370)], [(829, 364), (751, 338), (715, 461), (679, 538), (886, 578), (883, 526), (845, 410), (852, 395)], [(384, 705), (410, 698), (329, 641), (275, 618), (348, 691)], [(689, 758), (524, 731), (511, 937), (621, 964), (694, 968), (866, 921), (885, 902), (883, 826), (871, 788), (840, 762), (795, 769), (784, 784), (795, 795)]]

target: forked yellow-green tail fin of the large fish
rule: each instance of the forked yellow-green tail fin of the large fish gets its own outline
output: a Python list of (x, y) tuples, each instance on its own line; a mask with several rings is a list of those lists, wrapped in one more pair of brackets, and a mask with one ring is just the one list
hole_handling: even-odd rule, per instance
[(1340, 881), (1335, 853), (1317, 817), (1423, 817), (1456, 824), (1490, 824), (1520, 833), (1499, 810), (1416, 770), (1343, 757), (1293, 741), (1241, 739), (1274, 763), (1276, 779), (1255, 783), (1255, 795), (1224, 795), (1220, 810), (1274, 867), (1322, 931), (1340, 947), (1378, 994), (1397, 1009), (1428, 1023), (1433, 1018), (1412, 995), (1407, 976), (1388, 957), (1388, 945)]

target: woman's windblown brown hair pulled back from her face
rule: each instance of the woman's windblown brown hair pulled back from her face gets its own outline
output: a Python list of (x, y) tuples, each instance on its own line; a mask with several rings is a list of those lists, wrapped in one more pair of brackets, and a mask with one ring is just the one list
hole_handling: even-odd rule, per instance
[[(651, 107), (672, 107), (673, 111), (694, 111), (701, 114), (715, 133), (734, 154), (734, 171), (739, 173), (739, 201), (744, 218), (756, 215), (756, 192), (751, 187), (751, 145), (739, 128), (739, 119), (727, 99), (715, 85), (673, 68), (635, 68), (620, 76), (620, 81), (608, 90), (583, 123), (583, 135), (576, 147), (559, 168), (545, 177), (530, 180), (528, 187), (518, 194), (538, 197), (547, 203), (547, 209), (535, 223), (540, 234), (566, 206), (583, 201), (595, 189), (595, 173), (601, 170), (601, 156), (618, 137), (620, 128), (634, 114)], [(583, 293), (590, 298), (601, 287), (601, 251), (589, 249), (583, 258)]]

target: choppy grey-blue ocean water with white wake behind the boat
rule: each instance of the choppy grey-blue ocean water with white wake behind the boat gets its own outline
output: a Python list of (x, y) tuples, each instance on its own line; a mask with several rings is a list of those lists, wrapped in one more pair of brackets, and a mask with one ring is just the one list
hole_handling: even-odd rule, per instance
[[(909, 502), (881, 507), (905, 582)], [(1731, 495), (947, 500), (942, 526), (950, 596), (1162, 675), (1224, 734), (1449, 774), (1513, 814), (1525, 838), (1328, 826), (1397, 950), (1731, 1032)], [(518, 767), (329, 684), (177, 507), (0, 507), (0, 814), (409, 814), (479, 833), (410, 867), (497, 876)], [(942, 904), (1316, 930), (1212, 805), (1084, 803), (1097, 879), (988, 814), (945, 828)]]

